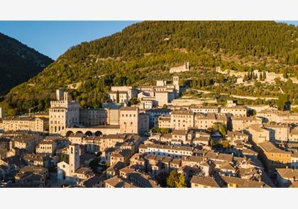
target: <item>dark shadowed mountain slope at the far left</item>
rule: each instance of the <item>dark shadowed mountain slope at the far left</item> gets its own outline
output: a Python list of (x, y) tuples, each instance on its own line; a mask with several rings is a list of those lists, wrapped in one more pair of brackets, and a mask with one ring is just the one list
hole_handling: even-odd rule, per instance
[(51, 62), (49, 57), (0, 33), (0, 95), (35, 76)]

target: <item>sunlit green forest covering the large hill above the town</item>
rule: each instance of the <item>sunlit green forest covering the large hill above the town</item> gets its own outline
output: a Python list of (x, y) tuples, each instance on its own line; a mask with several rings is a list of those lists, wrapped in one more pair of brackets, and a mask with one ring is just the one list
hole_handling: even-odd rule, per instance
[(96, 107), (108, 101), (111, 85), (139, 86), (160, 78), (170, 80), (168, 69), (185, 61), (197, 72), (194, 79), (203, 76), (207, 84), (233, 81), (216, 74), (216, 66), (241, 72), (286, 72), (289, 77), (298, 77), (298, 28), (274, 21), (136, 23), (120, 33), (71, 47), (43, 72), (11, 89), (1, 105), (9, 115), (26, 113), (37, 105), (43, 111), (55, 98), (55, 89), (67, 89), (66, 85), (79, 82), (78, 89), (70, 90), (72, 97), (82, 106)]

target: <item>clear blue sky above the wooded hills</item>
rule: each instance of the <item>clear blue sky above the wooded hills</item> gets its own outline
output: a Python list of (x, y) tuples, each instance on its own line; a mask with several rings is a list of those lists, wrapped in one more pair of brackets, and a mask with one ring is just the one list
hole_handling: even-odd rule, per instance
[[(138, 21), (0, 21), (0, 33), (9, 35), (56, 60), (84, 41), (121, 31)], [(286, 22), (298, 26), (298, 21)]]

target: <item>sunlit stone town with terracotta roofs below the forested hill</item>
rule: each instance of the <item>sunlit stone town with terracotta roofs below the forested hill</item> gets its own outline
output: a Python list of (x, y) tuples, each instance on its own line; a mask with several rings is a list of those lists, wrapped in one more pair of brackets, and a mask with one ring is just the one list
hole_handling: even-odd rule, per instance
[(189, 69), (172, 67), (172, 81), (155, 86), (111, 86), (100, 108), (60, 89), (47, 113), (0, 108), (0, 187), (298, 187), (298, 113), (182, 96)]

